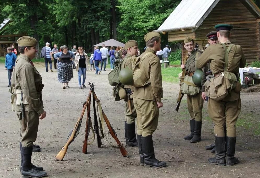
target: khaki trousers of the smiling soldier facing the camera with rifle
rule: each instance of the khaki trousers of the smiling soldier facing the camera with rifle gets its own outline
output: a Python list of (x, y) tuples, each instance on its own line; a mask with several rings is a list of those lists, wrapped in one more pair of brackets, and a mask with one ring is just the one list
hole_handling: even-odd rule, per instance
[(196, 120), (198, 122), (202, 121), (202, 108), (204, 100), (201, 97), (202, 92), (197, 95), (189, 96), (187, 95), (188, 111), (190, 113), (191, 120)]

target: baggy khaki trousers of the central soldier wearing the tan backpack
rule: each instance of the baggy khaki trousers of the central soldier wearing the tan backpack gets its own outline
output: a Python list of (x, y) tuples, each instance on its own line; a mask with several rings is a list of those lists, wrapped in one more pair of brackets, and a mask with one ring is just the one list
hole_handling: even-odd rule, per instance
[(147, 137), (157, 129), (159, 108), (155, 101), (134, 98), (137, 113), (137, 134)]

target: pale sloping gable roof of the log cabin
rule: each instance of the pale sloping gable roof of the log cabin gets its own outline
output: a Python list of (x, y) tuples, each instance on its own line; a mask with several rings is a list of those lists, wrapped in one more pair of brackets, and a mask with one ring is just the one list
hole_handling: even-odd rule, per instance
[[(260, 18), (260, 10), (252, 0), (239, 0), (253, 15)], [(182, 29), (196, 30), (217, 5), (219, 0), (182, 0), (170, 16), (155, 30), (169, 32)]]

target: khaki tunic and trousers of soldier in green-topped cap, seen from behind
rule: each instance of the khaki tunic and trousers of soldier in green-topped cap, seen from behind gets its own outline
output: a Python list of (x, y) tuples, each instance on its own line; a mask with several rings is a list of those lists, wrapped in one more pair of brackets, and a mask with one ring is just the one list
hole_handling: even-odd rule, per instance
[[(231, 44), (228, 40), (224, 42), (226, 47)], [(236, 46), (236, 51), (235, 51)], [(235, 51), (235, 53), (234, 53)], [(233, 59), (232, 59), (233, 56)], [(230, 63), (232, 59), (232, 62)], [(211, 45), (204, 51), (197, 61), (197, 67), (201, 68), (210, 63), (210, 69), (213, 74), (224, 72), (225, 51), (221, 43)], [(246, 64), (246, 59), (241, 46), (233, 45), (228, 54), (229, 68), (227, 72), (232, 72), (239, 76), (239, 67), (243, 68)], [(238, 81), (239, 82), (239, 81)], [(231, 90), (229, 94), (222, 100), (216, 101), (209, 98), (208, 112), (213, 120), (215, 127), (214, 133), (217, 137), (224, 137), (224, 124), (226, 123), (227, 136), (236, 137), (236, 120), (241, 111), (240, 93)]]

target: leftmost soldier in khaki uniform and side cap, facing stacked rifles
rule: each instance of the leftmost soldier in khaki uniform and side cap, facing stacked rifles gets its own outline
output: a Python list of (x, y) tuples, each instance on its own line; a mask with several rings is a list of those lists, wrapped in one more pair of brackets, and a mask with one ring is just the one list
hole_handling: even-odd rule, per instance
[(38, 52), (37, 40), (23, 36), (17, 40), (21, 53), (17, 59), (11, 78), (11, 104), (20, 121), (20, 151), (22, 176), (43, 177), (47, 175), (42, 167), (31, 163), (33, 142), (37, 138), (39, 119), (44, 119), (46, 112), (42, 102), (42, 77), (35, 69), (32, 59)]

